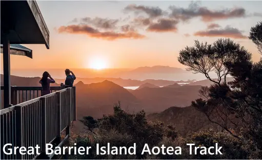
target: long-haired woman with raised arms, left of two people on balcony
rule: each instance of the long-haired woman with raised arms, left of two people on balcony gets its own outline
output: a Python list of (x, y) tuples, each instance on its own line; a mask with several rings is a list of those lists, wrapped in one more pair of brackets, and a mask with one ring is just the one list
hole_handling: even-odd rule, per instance
[(39, 83), (42, 85), (41, 96), (43, 96), (51, 93), (50, 83), (55, 83), (55, 81), (51, 77), (51, 75), (47, 71), (45, 71)]

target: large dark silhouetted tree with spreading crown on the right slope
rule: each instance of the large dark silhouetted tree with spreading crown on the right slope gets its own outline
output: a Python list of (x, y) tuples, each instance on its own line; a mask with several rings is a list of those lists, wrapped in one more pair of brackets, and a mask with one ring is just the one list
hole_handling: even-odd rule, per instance
[[(252, 28), (251, 32), (260, 31)], [(255, 41), (260, 40), (256, 37)], [(192, 106), (234, 137), (252, 141), (261, 150), (262, 60), (253, 63), (251, 53), (244, 47), (230, 39), (218, 39), (213, 44), (195, 41), (194, 47), (179, 52), (178, 61), (214, 83), (200, 89), (201, 98), (193, 101)], [(212, 71), (217, 79), (210, 77)], [(227, 75), (234, 81), (227, 82)]]

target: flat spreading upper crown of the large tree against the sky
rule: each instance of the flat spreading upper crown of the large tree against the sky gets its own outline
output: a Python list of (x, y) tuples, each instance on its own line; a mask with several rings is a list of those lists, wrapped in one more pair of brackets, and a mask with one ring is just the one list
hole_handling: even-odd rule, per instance
[[(187, 66), (188, 71), (203, 73), (210, 81), (220, 85), (230, 74), (228, 66), (232, 63), (251, 61), (251, 53), (231, 39), (218, 39), (213, 44), (195, 41), (195, 46), (186, 47), (179, 52), (178, 62)], [(217, 81), (210, 77), (215, 72)]]

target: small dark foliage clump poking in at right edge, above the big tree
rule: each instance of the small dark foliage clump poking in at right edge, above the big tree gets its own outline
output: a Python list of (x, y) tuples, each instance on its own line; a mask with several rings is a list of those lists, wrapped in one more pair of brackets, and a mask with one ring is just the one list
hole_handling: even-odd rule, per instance
[(262, 54), (262, 21), (251, 28), (249, 39), (256, 45), (258, 52)]

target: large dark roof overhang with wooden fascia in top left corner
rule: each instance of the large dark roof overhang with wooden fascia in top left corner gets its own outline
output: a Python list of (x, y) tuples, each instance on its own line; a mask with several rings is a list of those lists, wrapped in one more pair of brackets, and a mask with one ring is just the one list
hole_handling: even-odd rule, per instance
[(35, 1), (1, 1), (1, 44), (45, 44), (49, 31)]

